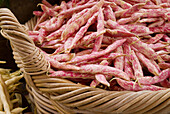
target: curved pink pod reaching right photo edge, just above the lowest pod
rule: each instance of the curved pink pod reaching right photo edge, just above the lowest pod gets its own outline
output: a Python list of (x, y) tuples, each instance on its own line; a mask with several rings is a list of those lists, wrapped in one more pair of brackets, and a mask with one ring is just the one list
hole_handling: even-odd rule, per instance
[(166, 70), (163, 70), (159, 76), (145, 76), (145, 77), (142, 77), (142, 78), (138, 78), (138, 82), (140, 84), (143, 84), (143, 85), (152, 85), (152, 84), (155, 84), (155, 83), (159, 83), (159, 82), (162, 82), (164, 81), (165, 79), (167, 79), (168, 77), (170, 77), (170, 68), (169, 69), (166, 69)]

